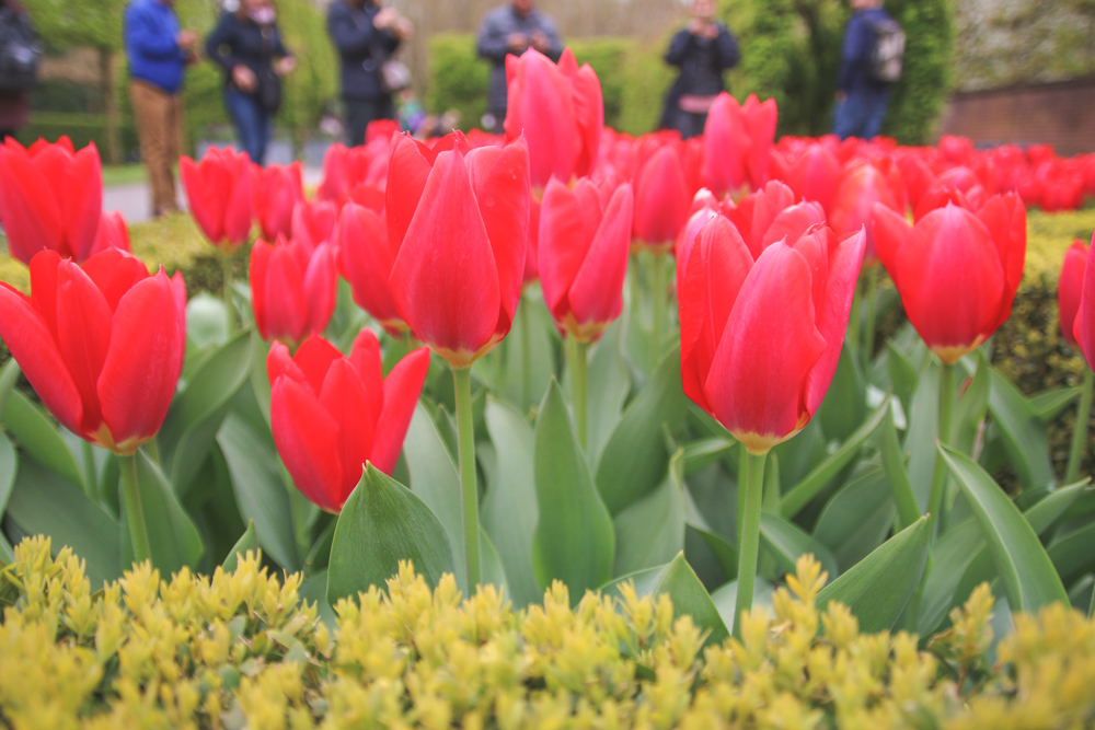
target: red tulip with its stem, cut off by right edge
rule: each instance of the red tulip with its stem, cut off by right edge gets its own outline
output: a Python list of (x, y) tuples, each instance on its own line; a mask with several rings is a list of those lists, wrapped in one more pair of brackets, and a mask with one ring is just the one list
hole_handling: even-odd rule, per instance
[(1061, 334), (1073, 347), (1079, 347), (1087, 359), (1084, 370), (1083, 392), (1076, 407), (1076, 425), (1072, 431), (1072, 448), (1069, 451), (1069, 465), (1064, 483), (1072, 484), (1080, 477), (1080, 464), (1084, 457), (1087, 444), (1087, 424), (1091, 420), (1092, 390), (1095, 375), (1092, 373), (1092, 362), (1095, 361), (1095, 316), (1092, 305), (1095, 304), (1095, 273), (1092, 271), (1092, 257), (1087, 255), (1087, 246), (1079, 239), (1064, 253), (1061, 265), (1061, 278), (1057, 287), (1057, 303), (1061, 316)]

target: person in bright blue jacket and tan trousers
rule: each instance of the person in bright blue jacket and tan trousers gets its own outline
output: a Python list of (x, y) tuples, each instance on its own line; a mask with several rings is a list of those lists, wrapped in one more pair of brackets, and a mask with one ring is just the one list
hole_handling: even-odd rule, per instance
[(174, 0), (132, 0), (124, 16), (129, 100), (152, 192), (152, 215), (178, 209), (172, 165), (183, 138), (183, 71), (195, 60), (197, 35), (182, 30)]

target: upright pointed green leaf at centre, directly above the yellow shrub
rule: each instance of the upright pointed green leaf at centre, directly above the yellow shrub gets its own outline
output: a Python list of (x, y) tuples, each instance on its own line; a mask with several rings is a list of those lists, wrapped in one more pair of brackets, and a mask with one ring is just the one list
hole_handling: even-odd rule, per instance
[(535, 428), (540, 519), (532, 538), (537, 583), (562, 580), (577, 601), (612, 576), (612, 517), (589, 474), (558, 384), (552, 381)]

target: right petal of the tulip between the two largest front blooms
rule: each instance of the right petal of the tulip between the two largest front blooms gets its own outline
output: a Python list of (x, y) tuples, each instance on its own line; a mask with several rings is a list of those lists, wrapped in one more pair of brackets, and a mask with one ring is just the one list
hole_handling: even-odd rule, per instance
[(633, 208), (631, 185), (622, 185), (609, 201), (586, 260), (570, 287), (570, 311), (579, 324), (609, 323), (620, 316)]

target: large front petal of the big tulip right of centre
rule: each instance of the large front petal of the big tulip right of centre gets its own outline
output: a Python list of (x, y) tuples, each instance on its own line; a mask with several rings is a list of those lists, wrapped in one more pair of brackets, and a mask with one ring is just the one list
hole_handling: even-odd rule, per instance
[(704, 391), (715, 417), (753, 452), (798, 431), (807, 374), (825, 352), (810, 273), (786, 244), (764, 250), (741, 286)]

